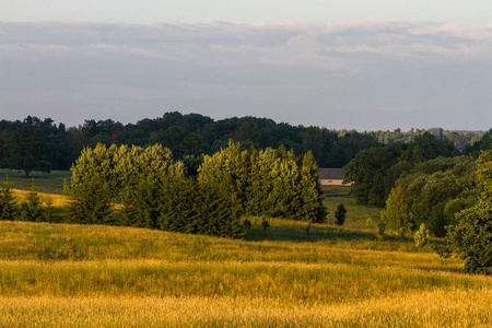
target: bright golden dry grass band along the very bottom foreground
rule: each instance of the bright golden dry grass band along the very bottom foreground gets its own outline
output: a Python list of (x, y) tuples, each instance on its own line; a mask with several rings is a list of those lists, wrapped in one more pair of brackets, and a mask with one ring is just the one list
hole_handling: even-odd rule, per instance
[(265, 297), (1, 297), (2, 327), (490, 327), (492, 290), (343, 304)]

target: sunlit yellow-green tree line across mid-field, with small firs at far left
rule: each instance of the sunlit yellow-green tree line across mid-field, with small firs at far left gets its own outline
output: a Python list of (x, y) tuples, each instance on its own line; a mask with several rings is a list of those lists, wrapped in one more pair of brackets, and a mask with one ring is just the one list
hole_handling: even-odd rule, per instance
[[(206, 155), (198, 175), (190, 176), (162, 145), (98, 143), (85, 148), (71, 171), (71, 183), (63, 188), (70, 196), (66, 209), (70, 223), (242, 237), (244, 215), (309, 222), (324, 222), (326, 216), (311, 152), (297, 156), (284, 148), (242, 150), (239, 142), (231, 141)], [(2, 192), (10, 195), (5, 201), (0, 198), (0, 214), (3, 208), (10, 213), (2, 219), (49, 221), (39, 200), (28, 202), (39, 214), (24, 215), (15, 209), (10, 187)], [(34, 189), (32, 195), (37, 197)], [(118, 215), (115, 204), (121, 208)]]

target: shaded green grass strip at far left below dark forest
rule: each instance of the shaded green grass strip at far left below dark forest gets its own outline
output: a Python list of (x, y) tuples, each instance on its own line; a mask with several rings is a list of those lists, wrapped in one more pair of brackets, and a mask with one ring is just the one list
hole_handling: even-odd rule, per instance
[(70, 181), (70, 171), (52, 171), (50, 174), (32, 172), (28, 178), (24, 177), (23, 172), (12, 169), (0, 169), (0, 183), (4, 184), (9, 179), (12, 188), (20, 190), (30, 190), (33, 181), (37, 191), (46, 194), (63, 194), (63, 179)]

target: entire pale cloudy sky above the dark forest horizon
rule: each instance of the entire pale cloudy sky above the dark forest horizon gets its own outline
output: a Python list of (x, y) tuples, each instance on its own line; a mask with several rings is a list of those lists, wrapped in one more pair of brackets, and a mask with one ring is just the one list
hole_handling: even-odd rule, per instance
[[(0, 119), (492, 128), (492, 1), (0, 0)], [(490, 15), (489, 15), (490, 16)]]

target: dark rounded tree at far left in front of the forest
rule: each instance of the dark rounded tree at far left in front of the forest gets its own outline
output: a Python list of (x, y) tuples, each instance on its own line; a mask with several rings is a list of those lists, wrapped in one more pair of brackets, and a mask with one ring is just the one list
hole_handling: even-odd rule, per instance
[(49, 147), (45, 133), (34, 126), (23, 125), (12, 134), (11, 155), (8, 167), (24, 171), (28, 177), (32, 171), (51, 172)]

